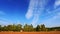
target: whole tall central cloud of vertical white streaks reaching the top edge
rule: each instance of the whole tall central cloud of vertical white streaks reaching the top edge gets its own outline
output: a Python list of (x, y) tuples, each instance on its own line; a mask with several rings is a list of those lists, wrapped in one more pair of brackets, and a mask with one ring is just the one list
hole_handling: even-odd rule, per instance
[(47, 1), (48, 0), (30, 0), (26, 18), (30, 19), (33, 16), (31, 24), (35, 25), (38, 22), (39, 16), (42, 14)]

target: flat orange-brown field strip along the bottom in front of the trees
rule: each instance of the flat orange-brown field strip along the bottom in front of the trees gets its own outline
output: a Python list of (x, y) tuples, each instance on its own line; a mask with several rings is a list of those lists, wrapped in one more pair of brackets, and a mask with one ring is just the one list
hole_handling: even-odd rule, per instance
[(60, 34), (60, 31), (52, 31), (52, 32), (0, 32), (0, 34)]

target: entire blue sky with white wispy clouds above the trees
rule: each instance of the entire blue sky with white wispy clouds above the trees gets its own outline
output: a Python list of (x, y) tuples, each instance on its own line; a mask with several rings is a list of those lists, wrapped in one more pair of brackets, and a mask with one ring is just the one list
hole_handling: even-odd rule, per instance
[(0, 25), (60, 26), (60, 0), (0, 0)]

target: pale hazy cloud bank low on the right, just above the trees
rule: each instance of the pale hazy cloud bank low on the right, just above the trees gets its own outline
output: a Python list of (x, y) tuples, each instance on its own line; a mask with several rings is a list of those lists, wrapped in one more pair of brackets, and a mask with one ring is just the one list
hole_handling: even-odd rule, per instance
[(60, 26), (60, 8), (55, 9), (52, 12), (54, 13), (54, 16), (49, 19), (44, 20), (40, 24), (45, 24), (46, 27)]

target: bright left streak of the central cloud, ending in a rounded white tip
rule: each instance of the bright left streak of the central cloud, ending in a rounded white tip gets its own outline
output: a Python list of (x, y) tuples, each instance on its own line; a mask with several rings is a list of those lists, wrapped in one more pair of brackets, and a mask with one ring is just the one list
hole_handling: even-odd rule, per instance
[(33, 9), (34, 9), (33, 7), (34, 7), (34, 4), (35, 4), (35, 1), (34, 2), (33, 1), (34, 0), (30, 0), (28, 11), (25, 15), (27, 19), (30, 19), (33, 16)]

